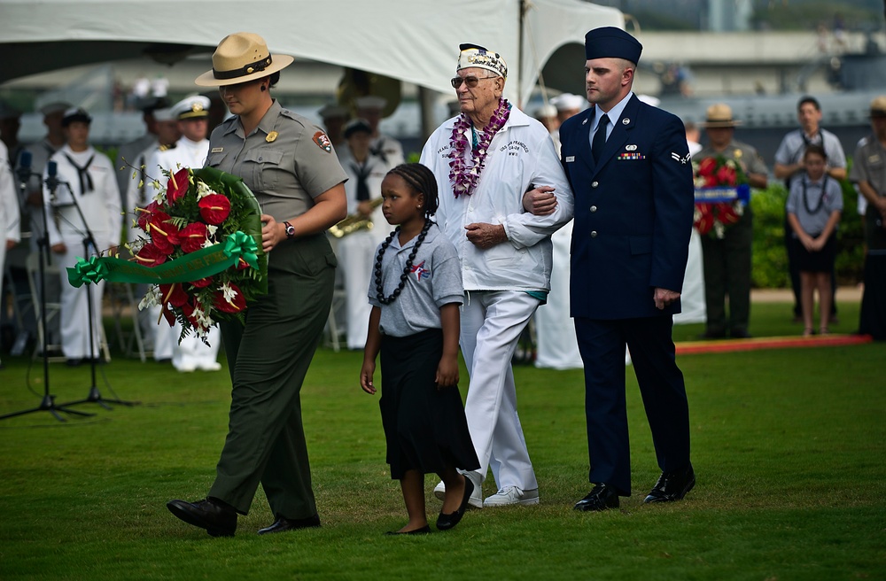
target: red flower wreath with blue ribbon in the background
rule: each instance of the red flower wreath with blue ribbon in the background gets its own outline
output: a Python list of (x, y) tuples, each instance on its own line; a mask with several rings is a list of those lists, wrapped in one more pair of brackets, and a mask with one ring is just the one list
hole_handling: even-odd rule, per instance
[[(741, 151), (735, 151), (741, 157)], [(722, 238), (726, 229), (741, 220), (750, 195), (747, 175), (734, 159), (722, 155), (693, 162), (696, 210), (693, 226), (702, 236)]]

